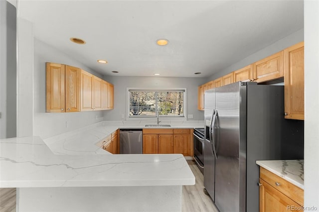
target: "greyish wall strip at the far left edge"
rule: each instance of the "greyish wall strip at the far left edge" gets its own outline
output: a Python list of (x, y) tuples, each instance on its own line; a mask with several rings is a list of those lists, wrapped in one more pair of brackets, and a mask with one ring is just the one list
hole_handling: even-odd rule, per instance
[(16, 137), (16, 8), (0, 0), (0, 138)]

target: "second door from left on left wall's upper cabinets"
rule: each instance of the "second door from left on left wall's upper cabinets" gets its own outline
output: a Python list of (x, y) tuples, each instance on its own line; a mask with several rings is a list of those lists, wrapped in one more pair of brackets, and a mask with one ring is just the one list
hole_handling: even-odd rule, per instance
[(65, 111), (80, 111), (80, 69), (65, 65)]

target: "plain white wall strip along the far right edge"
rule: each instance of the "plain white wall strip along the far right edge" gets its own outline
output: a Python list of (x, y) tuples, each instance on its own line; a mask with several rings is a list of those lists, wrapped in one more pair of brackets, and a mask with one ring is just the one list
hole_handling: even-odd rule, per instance
[(305, 0), (304, 5), (305, 207), (319, 211), (319, 1)]

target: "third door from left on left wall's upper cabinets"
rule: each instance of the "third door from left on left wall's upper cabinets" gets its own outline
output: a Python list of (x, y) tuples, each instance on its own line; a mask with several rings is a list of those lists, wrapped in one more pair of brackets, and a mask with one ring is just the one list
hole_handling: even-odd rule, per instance
[(93, 110), (93, 75), (81, 70), (81, 111)]

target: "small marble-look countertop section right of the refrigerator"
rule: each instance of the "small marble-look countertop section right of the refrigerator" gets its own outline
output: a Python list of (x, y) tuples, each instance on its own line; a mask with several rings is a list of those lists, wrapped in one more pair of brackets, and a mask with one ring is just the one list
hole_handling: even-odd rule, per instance
[(256, 164), (304, 189), (304, 160), (260, 160)]

